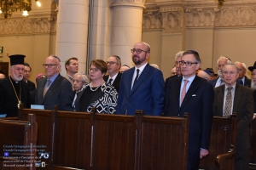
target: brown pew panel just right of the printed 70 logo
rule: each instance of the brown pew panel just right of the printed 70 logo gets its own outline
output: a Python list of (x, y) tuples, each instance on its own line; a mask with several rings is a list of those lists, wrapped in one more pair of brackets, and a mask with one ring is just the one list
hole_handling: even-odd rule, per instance
[(90, 113), (56, 112), (55, 166), (90, 168)]

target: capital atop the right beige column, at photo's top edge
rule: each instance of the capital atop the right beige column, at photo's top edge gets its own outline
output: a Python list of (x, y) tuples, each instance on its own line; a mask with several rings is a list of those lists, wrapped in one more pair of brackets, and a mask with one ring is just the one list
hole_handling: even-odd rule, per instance
[(137, 7), (146, 8), (144, 3), (146, 0), (112, 0), (110, 7)]

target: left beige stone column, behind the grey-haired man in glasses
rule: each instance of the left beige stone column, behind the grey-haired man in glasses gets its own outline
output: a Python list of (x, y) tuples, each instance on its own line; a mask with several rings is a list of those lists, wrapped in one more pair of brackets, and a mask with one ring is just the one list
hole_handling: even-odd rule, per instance
[(59, 0), (56, 31), (56, 55), (61, 59), (61, 75), (66, 75), (65, 61), (79, 59), (79, 71), (85, 72), (89, 1)]

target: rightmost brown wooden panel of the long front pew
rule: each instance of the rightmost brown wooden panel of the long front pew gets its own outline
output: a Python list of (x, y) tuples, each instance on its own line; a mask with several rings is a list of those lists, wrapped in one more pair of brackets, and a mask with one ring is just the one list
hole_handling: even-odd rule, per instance
[(182, 134), (181, 125), (143, 122), (141, 169), (182, 169)]

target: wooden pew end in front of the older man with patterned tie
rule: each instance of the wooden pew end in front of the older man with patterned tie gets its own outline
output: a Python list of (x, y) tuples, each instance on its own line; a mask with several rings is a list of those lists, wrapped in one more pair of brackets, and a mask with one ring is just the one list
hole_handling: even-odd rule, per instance
[[(209, 155), (202, 158), (200, 161), (200, 169), (219, 169), (220, 165), (229, 166), (226, 169), (233, 169), (235, 166), (235, 149), (232, 150), (233, 146), (236, 145), (236, 113), (227, 117), (214, 116), (212, 121), (212, 135), (209, 147)], [(221, 156), (218, 158), (216, 164), (216, 158), (218, 155), (226, 154), (229, 157), (230, 162), (226, 160), (227, 157)], [(225, 158), (225, 159), (224, 159)], [(223, 165), (223, 161), (224, 165)]]

